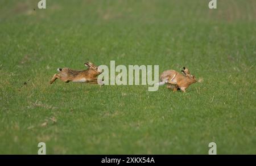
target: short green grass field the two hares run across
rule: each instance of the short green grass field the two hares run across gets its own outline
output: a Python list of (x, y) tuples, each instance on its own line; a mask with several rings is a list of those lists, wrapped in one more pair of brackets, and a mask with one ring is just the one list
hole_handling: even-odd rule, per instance
[[(256, 154), (256, 1), (38, 2), (0, 2), (0, 154)], [(111, 60), (204, 82), (49, 84), (58, 67)]]

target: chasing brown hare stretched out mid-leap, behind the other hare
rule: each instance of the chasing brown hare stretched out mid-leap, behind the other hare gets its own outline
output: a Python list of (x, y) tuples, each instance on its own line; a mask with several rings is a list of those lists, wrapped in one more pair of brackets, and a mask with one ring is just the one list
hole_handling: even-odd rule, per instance
[(97, 81), (97, 76), (102, 73), (96, 65), (91, 62), (84, 63), (88, 67), (86, 70), (73, 70), (69, 68), (58, 68), (59, 73), (53, 75), (50, 84), (55, 82), (56, 79), (60, 79), (66, 83), (68, 82), (81, 82), (81, 83), (93, 83), (103, 85), (104, 83)]

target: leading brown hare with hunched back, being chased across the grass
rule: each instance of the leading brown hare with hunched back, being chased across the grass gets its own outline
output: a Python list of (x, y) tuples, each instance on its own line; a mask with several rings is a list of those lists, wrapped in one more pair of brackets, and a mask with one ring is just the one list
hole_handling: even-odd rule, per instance
[(178, 73), (175, 70), (166, 70), (160, 75), (159, 86), (167, 84), (167, 88), (172, 89), (173, 92), (177, 90), (181, 90), (185, 92), (185, 90), (193, 83), (196, 83), (197, 80), (195, 76), (191, 75), (189, 70), (183, 67), (181, 73)]

